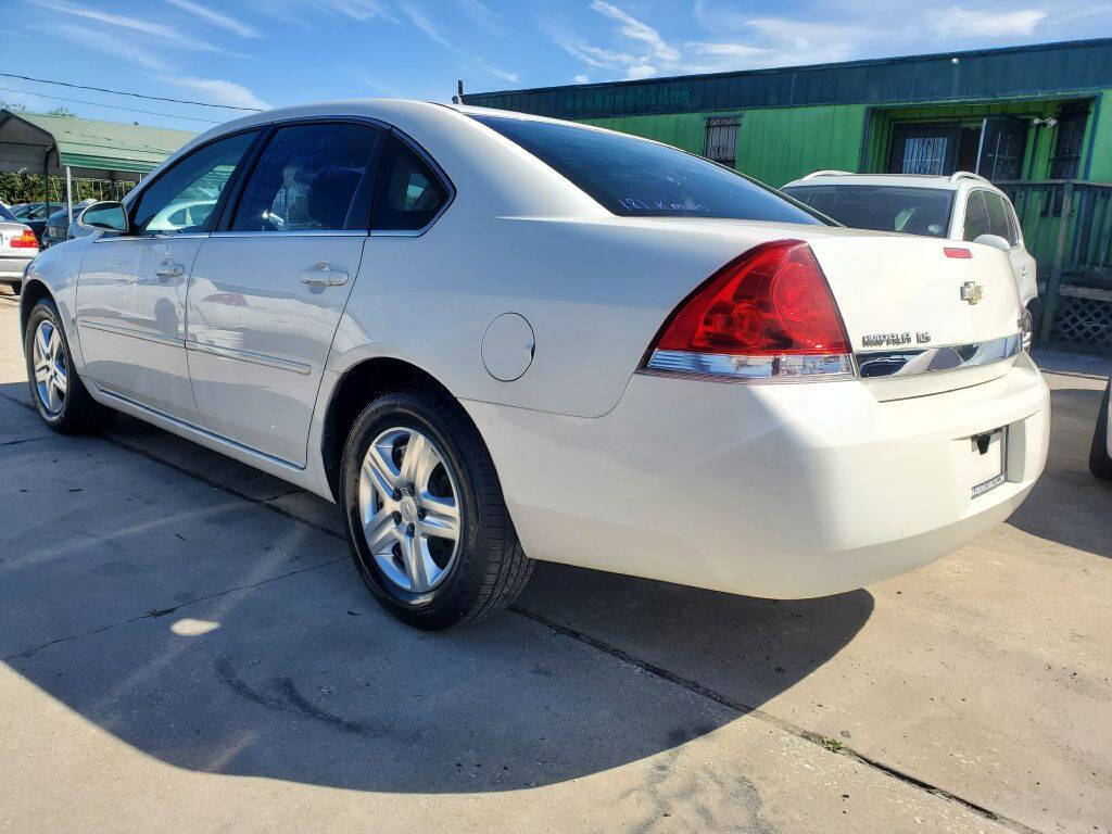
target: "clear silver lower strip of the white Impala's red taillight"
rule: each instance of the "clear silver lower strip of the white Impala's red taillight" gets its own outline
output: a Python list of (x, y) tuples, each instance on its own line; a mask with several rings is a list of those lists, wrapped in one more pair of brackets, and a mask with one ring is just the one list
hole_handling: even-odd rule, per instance
[(807, 383), (856, 376), (850, 354), (735, 356), (693, 350), (654, 350), (642, 373), (751, 383)]

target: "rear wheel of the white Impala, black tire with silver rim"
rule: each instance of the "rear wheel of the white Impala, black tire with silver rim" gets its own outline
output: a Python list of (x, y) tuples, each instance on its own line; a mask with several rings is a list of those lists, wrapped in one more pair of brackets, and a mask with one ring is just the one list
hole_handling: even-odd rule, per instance
[[(418, 448), (424, 465), (414, 463)], [(360, 577), (410, 626), (438, 631), (485, 619), (509, 605), (533, 573), (486, 444), (444, 393), (377, 396), (348, 434), (339, 492)], [(454, 512), (455, 539), (443, 538), (440, 508), (453, 506), (444, 529)]]

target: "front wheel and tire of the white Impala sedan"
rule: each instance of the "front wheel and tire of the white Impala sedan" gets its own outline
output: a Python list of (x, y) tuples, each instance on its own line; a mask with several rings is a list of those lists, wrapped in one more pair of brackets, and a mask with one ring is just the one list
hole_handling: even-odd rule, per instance
[[(37, 347), (36, 339), (40, 332), (44, 335), (44, 345)], [(72, 371), (69, 340), (61, 326), (58, 308), (50, 299), (44, 298), (36, 304), (31, 315), (27, 317), (23, 356), (31, 403), (42, 421), (54, 431), (62, 435), (93, 434), (106, 428), (116, 417), (116, 411), (92, 398), (81, 377)], [(36, 360), (43, 356), (48, 358), (44, 366), (50, 371), (46, 380), (39, 379), (36, 368)], [(64, 384), (63, 393), (54, 384), (59, 377)]]

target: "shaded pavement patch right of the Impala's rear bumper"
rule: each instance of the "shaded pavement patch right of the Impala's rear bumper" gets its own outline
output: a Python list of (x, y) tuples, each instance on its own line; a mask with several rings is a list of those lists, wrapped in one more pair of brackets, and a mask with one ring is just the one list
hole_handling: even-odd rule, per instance
[(1103, 396), (1103, 388), (1051, 391), (1054, 421), (1046, 469), (1009, 524), (1112, 558), (1112, 483), (1089, 471), (1089, 449)]

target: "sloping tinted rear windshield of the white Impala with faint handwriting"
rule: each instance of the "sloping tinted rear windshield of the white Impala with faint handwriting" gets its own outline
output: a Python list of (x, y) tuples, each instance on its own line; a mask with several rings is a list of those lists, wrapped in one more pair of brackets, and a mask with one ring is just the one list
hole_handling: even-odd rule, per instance
[(620, 217), (713, 217), (822, 224), (775, 190), (707, 159), (574, 125), (473, 116)]

